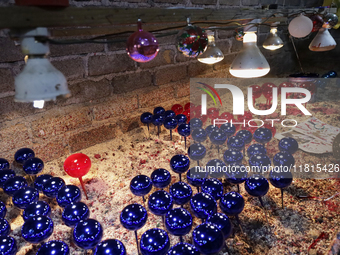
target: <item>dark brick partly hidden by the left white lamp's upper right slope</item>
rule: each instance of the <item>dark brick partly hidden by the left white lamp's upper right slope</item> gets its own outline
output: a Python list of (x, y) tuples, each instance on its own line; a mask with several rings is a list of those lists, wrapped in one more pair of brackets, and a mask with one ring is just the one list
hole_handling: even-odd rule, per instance
[(67, 80), (82, 78), (85, 75), (85, 65), (82, 58), (54, 60), (52, 64), (65, 75)]

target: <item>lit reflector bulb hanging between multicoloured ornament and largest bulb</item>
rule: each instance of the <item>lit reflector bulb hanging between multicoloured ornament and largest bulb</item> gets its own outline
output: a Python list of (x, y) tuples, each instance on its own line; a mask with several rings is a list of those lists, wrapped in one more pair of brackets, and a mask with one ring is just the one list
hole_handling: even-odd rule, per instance
[(207, 49), (197, 58), (197, 60), (201, 63), (212, 65), (222, 61), (224, 59), (224, 55), (223, 52), (215, 44), (215, 37), (213, 32), (207, 31), (207, 34)]

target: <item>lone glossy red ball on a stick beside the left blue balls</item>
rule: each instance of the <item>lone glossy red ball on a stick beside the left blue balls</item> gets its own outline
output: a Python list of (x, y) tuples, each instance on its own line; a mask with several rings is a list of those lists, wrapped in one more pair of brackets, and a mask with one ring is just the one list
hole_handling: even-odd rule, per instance
[(83, 153), (75, 153), (69, 156), (64, 162), (65, 172), (74, 178), (86, 175), (91, 168), (91, 159)]

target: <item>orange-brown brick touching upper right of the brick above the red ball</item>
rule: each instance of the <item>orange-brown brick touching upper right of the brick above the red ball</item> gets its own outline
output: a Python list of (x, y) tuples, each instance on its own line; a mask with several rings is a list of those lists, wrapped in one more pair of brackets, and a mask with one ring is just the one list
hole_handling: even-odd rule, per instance
[(138, 108), (137, 96), (113, 96), (110, 101), (93, 108), (95, 120), (119, 118)]

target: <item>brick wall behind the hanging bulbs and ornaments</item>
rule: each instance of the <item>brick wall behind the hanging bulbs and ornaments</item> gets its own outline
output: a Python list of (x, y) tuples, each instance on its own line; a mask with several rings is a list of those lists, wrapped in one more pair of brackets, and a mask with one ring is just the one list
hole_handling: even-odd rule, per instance
[[(77, 1), (71, 5), (103, 5), (124, 7), (203, 6), (207, 8), (260, 7), (261, 4), (284, 1), (259, 0), (128, 0)], [(313, 2), (313, 3), (312, 3)], [(321, 1), (322, 2), (322, 1)], [(285, 1), (285, 5), (314, 6), (320, 1)], [(13, 1), (2, 1), (0, 5)], [(282, 6), (281, 6), (282, 7)], [(259, 45), (267, 34), (259, 31)], [(337, 31), (332, 31), (339, 37)], [(299, 71), (286, 30), (280, 31), (286, 45), (275, 52), (262, 49), (271, 65), (269, 77), (282, 77)], [(313, 53), (308, 50), (311, 38), (297, 41), (306, 72), (335, 69), (337, 50)], [(220, 30), (217, 45), (225, 59), (213, 66), (185, 58), (176, 49), (176, 36), (161, 38), (160, 52), (149, 63), (136, 63), (125, 53), (124, 44), (51, 45), (50, 60), (68, 79), (72, 97), (47, 102), (44, 109), (32, 104), (14, 102), (14, 77), (24, 66), (20, 47), (15, 46), (5, 32), (0, 33), (0, 157), (11, 159), (24, 146), (33, 148), (48, 161), (62, 155), (101, 143), (140, 125), (139, 116), (155, 106), (167, 109), (174, 103), (189, 99), (191, 77), (229, 77), (228, 68), (242, 43), (233, 31)], [(321, 56), (321, 57), (320, 57)], [(313, 62), (314, 61), (314, 62)], [(316, 64), (318, 63), (318, 64)]]

